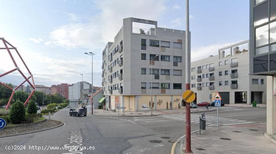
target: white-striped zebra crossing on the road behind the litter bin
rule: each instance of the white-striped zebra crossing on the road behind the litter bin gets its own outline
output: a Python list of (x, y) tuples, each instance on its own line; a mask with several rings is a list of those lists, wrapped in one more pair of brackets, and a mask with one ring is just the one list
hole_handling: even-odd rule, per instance
[[(178, 114), (165, 114), (165, 115), (158, 115), (163, 119), (172, 119), (172, 120), (179, 120), (179, 121), (186, 121), (186, 115), (183, 113)], [(198, 114), (191, 114), (191, 123), (199, 123), (199, 116)], [(217, 117), (216, 116), (206, 116), (206, 126), (215, 126), (217, 125)], [(161, 120), (160, 120), (161, 121)], [(234, 124), (247, 124), (253, 123), (251, 121), (246, 120), (238, 120), (238, 119), (231, 119), (231, 118), (224, 118), (219, 117), (219, 124), (220, 125), (234, 125)]]

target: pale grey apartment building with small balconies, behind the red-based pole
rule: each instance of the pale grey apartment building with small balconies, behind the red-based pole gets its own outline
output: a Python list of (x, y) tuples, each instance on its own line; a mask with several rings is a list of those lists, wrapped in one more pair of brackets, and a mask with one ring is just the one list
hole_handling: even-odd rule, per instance
[[(219, 92), (225, 104), (266, 103), (266, 77), (249, 76), (248, 41), (222, 49), (218, 55), (191, 63), (191, 89), (197, 102), (210, 102)], [(212, 100), (213, 101), (213, 100)]]

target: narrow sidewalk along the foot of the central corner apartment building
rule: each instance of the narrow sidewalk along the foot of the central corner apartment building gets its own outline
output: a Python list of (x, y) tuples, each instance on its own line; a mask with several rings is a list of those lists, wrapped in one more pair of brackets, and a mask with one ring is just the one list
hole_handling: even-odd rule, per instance
[[(206, 110), (206, 108), (193, 108), (191, 109), (191, 113), (197, 113), (197, 112), (210, 112), (214, 111), (215, 108)], [(185, 113), (185, 109), (173, 109), (173, 110), (159, 110), (159, 111), (153, 111), (153, 115), (162, 115), (162, 114), (174, 114), (174, 113)], [(124, 111), (124, 115), (122, 115), (123, 112), (119, 111), (119, 116), (150, 116), (151, 111), (142, 111), (142, 112), (129, 112)], [(101, 109), (94, 109), (94, 115), (96, 116), (118, 116), (118, 110), (117, 112), (103, 112)]]

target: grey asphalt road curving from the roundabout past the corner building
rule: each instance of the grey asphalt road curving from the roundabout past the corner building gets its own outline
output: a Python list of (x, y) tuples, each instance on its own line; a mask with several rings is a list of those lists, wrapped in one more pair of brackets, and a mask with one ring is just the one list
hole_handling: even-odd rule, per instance
[[(147, 117), (75, 117), (68, 113), (65, 109), (52, 116), (65, 122), (60, 128), (0, 138), (0, 153), (170, 153), (171, 140), (185, 134), (182, 113)], [(191, 115), (191, 131), (198, 129), (200, 115)], [(216, 111), (205, 113), (207, 127), (216, 126), (216, 115)], [(266, 109), (221, 107), (219, 116), (222, 125), (264, 125)], [(67, 149), (62, 149), (64, 145)], [(68, 149), (72, 145), (85, 147)], [(19, 149), (6, 149), (9, 147)]]

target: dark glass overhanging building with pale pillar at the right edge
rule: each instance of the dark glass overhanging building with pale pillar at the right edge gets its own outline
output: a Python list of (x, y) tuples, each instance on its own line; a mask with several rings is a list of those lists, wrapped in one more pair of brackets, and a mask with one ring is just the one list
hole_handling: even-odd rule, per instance
[(250, 0), (250, 74), (267, 76), (266, 133), (276, 140), (276, 1)]

